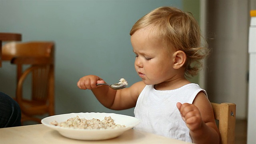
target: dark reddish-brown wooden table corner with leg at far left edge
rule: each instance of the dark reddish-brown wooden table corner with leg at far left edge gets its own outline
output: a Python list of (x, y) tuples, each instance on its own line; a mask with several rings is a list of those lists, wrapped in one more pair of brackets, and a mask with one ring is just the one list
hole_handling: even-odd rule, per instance
[(21, 34), (0, 32), (0, 67), (2, 67), (2, 42), (21, 41)]

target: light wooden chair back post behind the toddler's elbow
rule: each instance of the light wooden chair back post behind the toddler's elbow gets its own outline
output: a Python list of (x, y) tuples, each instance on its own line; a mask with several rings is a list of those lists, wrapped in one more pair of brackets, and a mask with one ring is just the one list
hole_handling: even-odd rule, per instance
[(218, 120), (220, 130), (221, 144), (235, 143), (235, 126), (236, 126), (236, 104), (233, 103), (211, 103), (214, 118)]

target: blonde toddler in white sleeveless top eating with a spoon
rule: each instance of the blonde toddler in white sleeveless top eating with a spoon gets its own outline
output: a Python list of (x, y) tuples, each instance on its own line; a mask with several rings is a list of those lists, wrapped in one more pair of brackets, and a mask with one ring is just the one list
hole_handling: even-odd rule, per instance
[(96, 86), (94, 75), (77, 86), (90, 89), (105, 107), (134, 109), (140, 124), (134, 129), (194, 143), (219, 143), (219, 131), (206, 91), (190, 83), (202, 67), (208, 49), (200, 44), (200, 28), (188, 13), (160, 7), (140, 18), (130, 31), (134, 66), (142, 81), (113, 90)]

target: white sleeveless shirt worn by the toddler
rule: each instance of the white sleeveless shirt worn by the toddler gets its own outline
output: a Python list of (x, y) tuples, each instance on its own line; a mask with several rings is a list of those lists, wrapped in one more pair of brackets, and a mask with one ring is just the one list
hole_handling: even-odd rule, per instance
[(140, 120), (134, 129), (192, 142), (176, 103), (192, 104), (200, 91), (206, 94), (205, 90), (194, 83), (174, 90), (155, 90), (154, 85), (146, 85), (134, 108), (134, 115)]

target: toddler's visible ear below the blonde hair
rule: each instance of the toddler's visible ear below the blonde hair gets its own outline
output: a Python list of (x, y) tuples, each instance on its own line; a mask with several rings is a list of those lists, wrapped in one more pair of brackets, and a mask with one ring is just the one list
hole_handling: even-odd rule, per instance
[(174, 52), (174, 63), (173, 63), (173, 68), (174, 69), (179, 69), (181, 68), (185, 62), (186, 62), (186, 54), (182, 50), (178, 50), (177, 52)]

